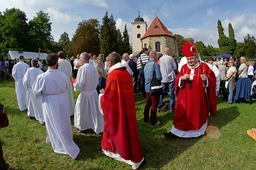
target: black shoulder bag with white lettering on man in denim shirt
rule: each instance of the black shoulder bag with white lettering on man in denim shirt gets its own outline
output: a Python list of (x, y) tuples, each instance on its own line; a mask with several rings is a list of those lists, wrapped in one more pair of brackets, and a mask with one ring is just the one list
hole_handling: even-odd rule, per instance
[(149, 88), (149, 96), (160, 96), (163, 95), (163, 86), (161, 84), (161, 81), (157, 79), (156, 71), (155, 71), (155, 64), (153, 65), (153, 78), (150, 82), (150, 88)]

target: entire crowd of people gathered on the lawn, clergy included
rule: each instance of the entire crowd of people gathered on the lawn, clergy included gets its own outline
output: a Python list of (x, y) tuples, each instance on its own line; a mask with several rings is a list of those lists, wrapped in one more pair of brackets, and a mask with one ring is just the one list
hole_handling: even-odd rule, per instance
[[(170, 99), (165, 104), (175, 114), (174, 126), (163, 135), (191, 138), (203, 135), (208, 116), (217, 114), (217, 96), (223, 95), (219, 87), (224, 81), (228, 82), (227, 103), (232, 103), (236, 81), (254, 77), (256, 64), (249, 61), (247, 67), (245, 57), (240, 62), (235, 56), (225, 61), (209, 58), (202, 62), (195, 49), (194, 44), (185, 43), (185, 57), (181, 60), (175, 60), (168, 47), (164, 54), (143, 48), (141, 55), (125, 53), (121, 57), (112, 52), (106, 59), (104, 54), (97, 57), (87, 52), (69, 59), (59, 51), (47, 55), (45, 73), (39, 69), (38, 59), (32, 59), (29, 67), (20, 56), (10, 73), (20, 110), (28, 110), (29, 119), (46, 126), (46, 141), (52, 144), (54, 152), (73, 159), (79, 154), (71, 129), (70, 116), (74, 115), (77, 133), (92, 129), (102, 134), (103, 154), (137, 169), (145, 162), (137, 130), (137, 86), (146, 98), (144, 123), (150, 122), (152, 127), (163, 124), (157, 120), (157, 109), (164, 106), (163, 99), (169, 91)], [(152, 85), (154, 78), (161, 81), (157, 86)], [(80, 91), (76, 103), (71, 83), (74, 91)], [(162, 91), (155, 94), (154, 89)]]

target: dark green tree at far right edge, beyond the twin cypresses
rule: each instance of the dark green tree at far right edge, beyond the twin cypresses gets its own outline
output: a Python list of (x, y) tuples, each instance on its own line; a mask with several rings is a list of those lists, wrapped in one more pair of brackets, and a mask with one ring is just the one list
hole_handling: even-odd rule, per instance
[(244, 54), (247, 58), (256, 58), (256, 39), (249, 33), (247, 36), (243, 37), (244, 43)]

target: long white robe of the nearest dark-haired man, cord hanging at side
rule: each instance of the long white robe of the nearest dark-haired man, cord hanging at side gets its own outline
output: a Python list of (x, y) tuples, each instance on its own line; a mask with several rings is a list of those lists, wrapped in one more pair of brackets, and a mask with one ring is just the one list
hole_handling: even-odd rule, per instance
[(45, 126), (54, 152), (75, 159), (80, 150), (73, 141), (66, 96), (67, 76), (59, 70), (47, 70), (37, 76), (32, 89), (37, 99), (42, 98)]

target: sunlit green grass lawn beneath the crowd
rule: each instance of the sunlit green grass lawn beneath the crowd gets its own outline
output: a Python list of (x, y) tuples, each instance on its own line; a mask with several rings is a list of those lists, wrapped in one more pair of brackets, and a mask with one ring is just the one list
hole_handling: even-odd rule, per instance
[[(79, 92), (74, 92), (75, 102)], [(167, 97), (166, 97), (167, 99)], [(91, 129), (88, 134), (75, 132), (74, 116), (71, 117), (73, 140), (80, 148), (75, 160), (64, 154), (53, 152), (46, 144), (46, 128), (36, 120), (29, 120), (27, 111), (18, 108), (15, 81), (0, 82), (0, 102), (5, 106), (9, 126), (0, 129), (5, 160), (13, 170), (131, 170), (131, 166), (104, 156), (100, 152), (101, 135)], [(202, 135), (197, 138), (165, 138), (164, 132), (171, 130), (174, 113), (158, 113), (158, 121), (164, 124), (151, 127), (143, 123), (146, 100), (141, 93), (135, 95), (138, 135), (146, 164), (145, 170), (255, 170), (256, 146), (247, 129), (256, 128), (256, 101), (249, 105), (237, 101), (225, 104), (218, 98), (217, 116), (211, 118), (221, 136), (218, 140)], [(193, 102), (193, 101), (191, 101)]]

